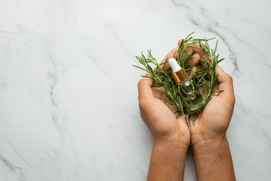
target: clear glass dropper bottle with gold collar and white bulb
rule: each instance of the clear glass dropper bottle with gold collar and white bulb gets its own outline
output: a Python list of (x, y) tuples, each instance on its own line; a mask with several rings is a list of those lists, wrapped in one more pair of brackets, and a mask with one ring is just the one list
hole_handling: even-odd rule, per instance
[(174, 58), (169, 59), (168, 63), (172, 68), (171, 75), (178, 85), (179, 93), (184, 96), (184, 99), (188, 103), (188, 108), (192, 111), (201, 108), (205, 100), (198, 91), (195, 82), (188, 78), (185, 68), (180, 67)]

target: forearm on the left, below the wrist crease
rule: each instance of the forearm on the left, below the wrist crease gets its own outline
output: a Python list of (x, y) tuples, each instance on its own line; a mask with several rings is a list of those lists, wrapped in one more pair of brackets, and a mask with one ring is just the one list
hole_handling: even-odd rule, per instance
[(188, 146), (154, 141), (147, 181), (183, 180)]

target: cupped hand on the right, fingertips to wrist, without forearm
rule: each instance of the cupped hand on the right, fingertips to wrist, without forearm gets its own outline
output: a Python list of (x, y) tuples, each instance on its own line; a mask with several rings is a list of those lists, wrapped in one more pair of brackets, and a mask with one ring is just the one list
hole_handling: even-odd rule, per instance
[[(182, 39), (181, 39), (182, 40)], [(180, 41), (179, 40), (179, 43)], [(212, 61), (201, 48), (199, 44), (194, 44), (194, 56)], [(204, 59), (203, 59), (204, 58)], [(197, 59), (194, 59), (194, 65)], [(195, 67), (192, 71), (198, 71)], [(215, 76), (218, 74), (217, 86), (214, 90), (224, 90), (222, 92), (212, 95), (212, 99), (199, 113), (199, 117), (195, 119), (195, 126), (192, 120), (189, 120), (191, 125), (191, 144), (192, 146), (207, 140), (214, 140), (216, 138), (226, 138), (226, 131), (232, 118), (233, 108), (235, 104), (235, 96), (233, 92), (232, 77), (228, 75), (223, 69), (217, 65)]]

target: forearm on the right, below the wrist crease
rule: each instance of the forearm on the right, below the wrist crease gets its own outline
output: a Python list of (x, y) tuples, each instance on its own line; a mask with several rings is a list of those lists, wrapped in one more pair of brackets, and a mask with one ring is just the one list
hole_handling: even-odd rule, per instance
[(232, 156), (226, 137), (192, 145), (198, 181), (235, 181)]

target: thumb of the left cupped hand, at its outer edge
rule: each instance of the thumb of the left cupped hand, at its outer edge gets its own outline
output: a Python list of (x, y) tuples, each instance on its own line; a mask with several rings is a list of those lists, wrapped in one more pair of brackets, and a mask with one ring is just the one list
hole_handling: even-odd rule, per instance
[[(151, 77), (150, 73), (146, 73), (145, 76)], [(152, 93), (151, 86), (153, 84), (153, 79), (151, 78), (142, 78), (138, 84), (138, 101), (139, 107), (146, 107), (148, 104), (152, 104), (155, 101), (155, 97)]]

